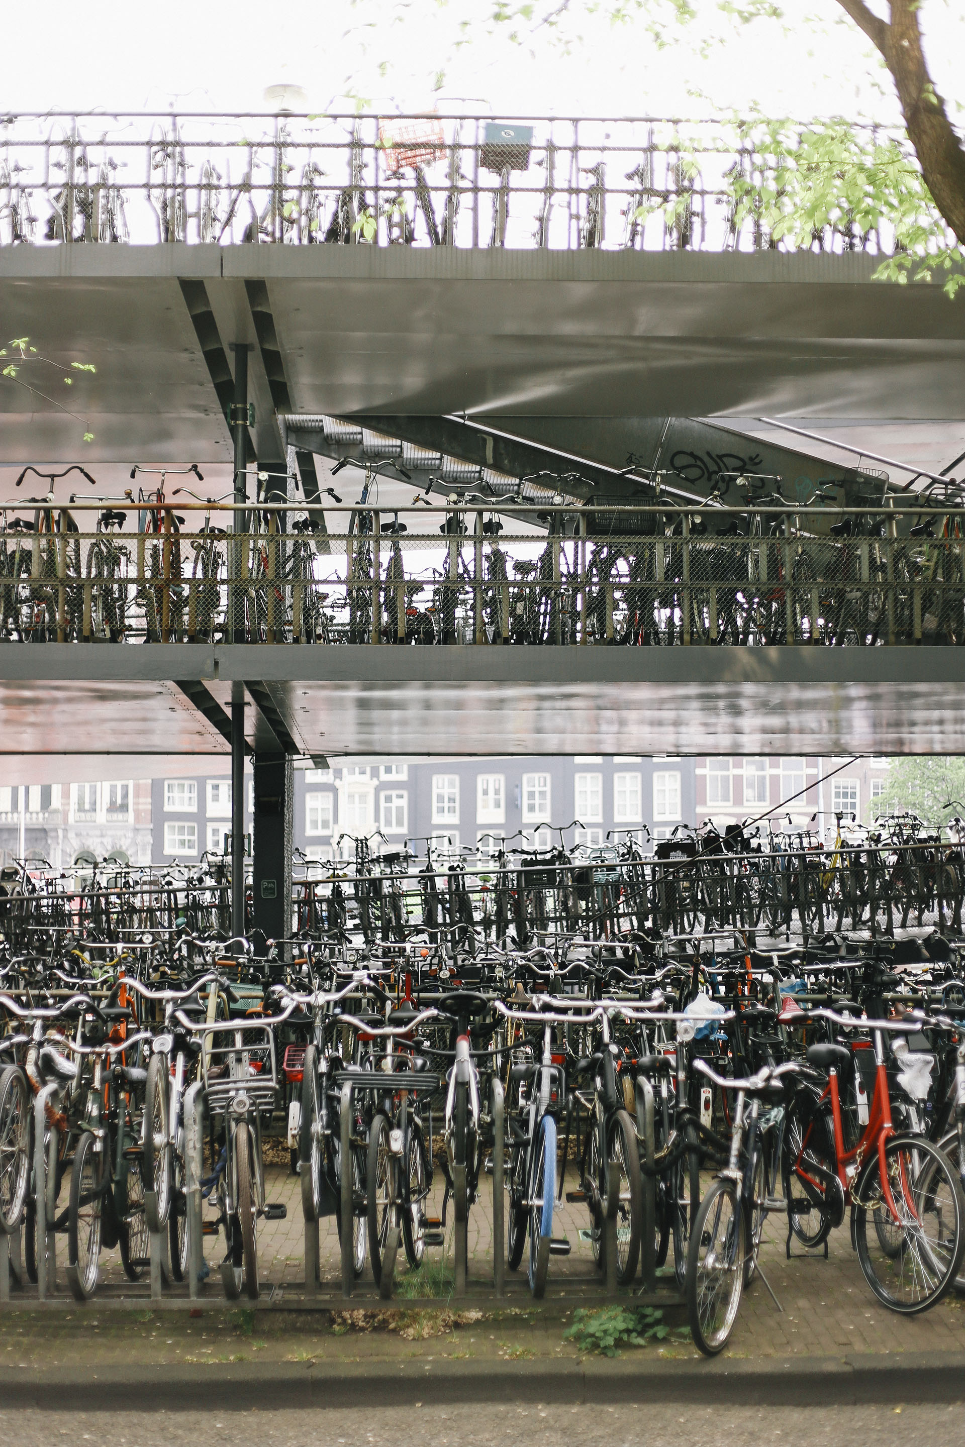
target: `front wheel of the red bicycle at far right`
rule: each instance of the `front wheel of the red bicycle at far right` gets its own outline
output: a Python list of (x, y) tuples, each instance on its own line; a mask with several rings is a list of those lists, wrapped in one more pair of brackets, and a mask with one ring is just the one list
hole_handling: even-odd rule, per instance
[[(893, 1136), (884, 1147), (894, 1214), (881, 1181), (880, 1159), (870, 1163), (855, 1191), (854, 1240), (872, 1292), (893, 1311), (927, 1311), (951, 1289), (965, 1250), (965, 1197), (948, 1156), (920, 1136)], [(901, 1231), (898, 1252), (883, 1250), (868, 1231), (878, 1213)], [(885, 1234), (890, 1240), (891, 1229)]]

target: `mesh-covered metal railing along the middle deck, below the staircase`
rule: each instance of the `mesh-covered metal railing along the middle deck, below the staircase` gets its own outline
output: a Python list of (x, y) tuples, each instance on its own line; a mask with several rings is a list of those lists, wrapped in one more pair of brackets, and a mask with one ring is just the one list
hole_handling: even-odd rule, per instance
[(501, 517), (453, 504), (408, 511), (407, 524), (341, 506), (326, 508), (324, 535), (289, 505), (250, 509), (242, 534), (203, 505), (114, 508), (94, 530), (74, 517), (88, 509), (0, 514), (0, 638), (965, 642), (965, 512), (952, 508), (587, 504)]

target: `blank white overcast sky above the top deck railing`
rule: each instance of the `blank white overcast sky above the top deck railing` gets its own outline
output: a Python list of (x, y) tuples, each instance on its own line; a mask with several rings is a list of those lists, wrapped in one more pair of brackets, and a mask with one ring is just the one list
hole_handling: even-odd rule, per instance
[[(347, 93), (383, 111), (421, 110), (435, 98), (444, 109), (462, 97), (509, 116), (705, 116), (760, 106), (802, 119), (896, 117), (888, 77), (835, 0), (788, 0), (788, 10), (813, 10), (828, 22), (823, 33), (803, 27), (794, 35), (771, 22), (741, 27), (720, 17), (713, 0), (696, 3), (700, 22), (681, 45), (660, 52), (641, 17), (615, 26), (605, 14), (587, 14), (587, 0), (571, 0), (560, 32), (571, 42), (567, 55), (545, 26), (524, 25), (521, 43), (511, 42), (511, 26), (488, 26), (490, 0), (136, 7), (45, 0), (7, 7), (3, 106), (246, 111), (265, 109), (268, 85), (289, 82), (318, 110)], [(537, 13), (545, 9), (538, 0)], [(923, 22), (939, 91), (965, 100), (962, 0), (924, 0)], [(699, 41), (707, 38), (700, 55)]]

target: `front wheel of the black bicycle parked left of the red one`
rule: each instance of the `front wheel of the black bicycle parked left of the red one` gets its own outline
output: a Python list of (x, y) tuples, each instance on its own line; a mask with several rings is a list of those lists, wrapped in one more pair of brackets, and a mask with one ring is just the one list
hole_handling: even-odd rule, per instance
[(697, 1347), (728, 1344), (744, 1289), (744, 1211), (732, 1181), (715, 1181), (697, 1210), (687, 1249), (687, 1318)]

